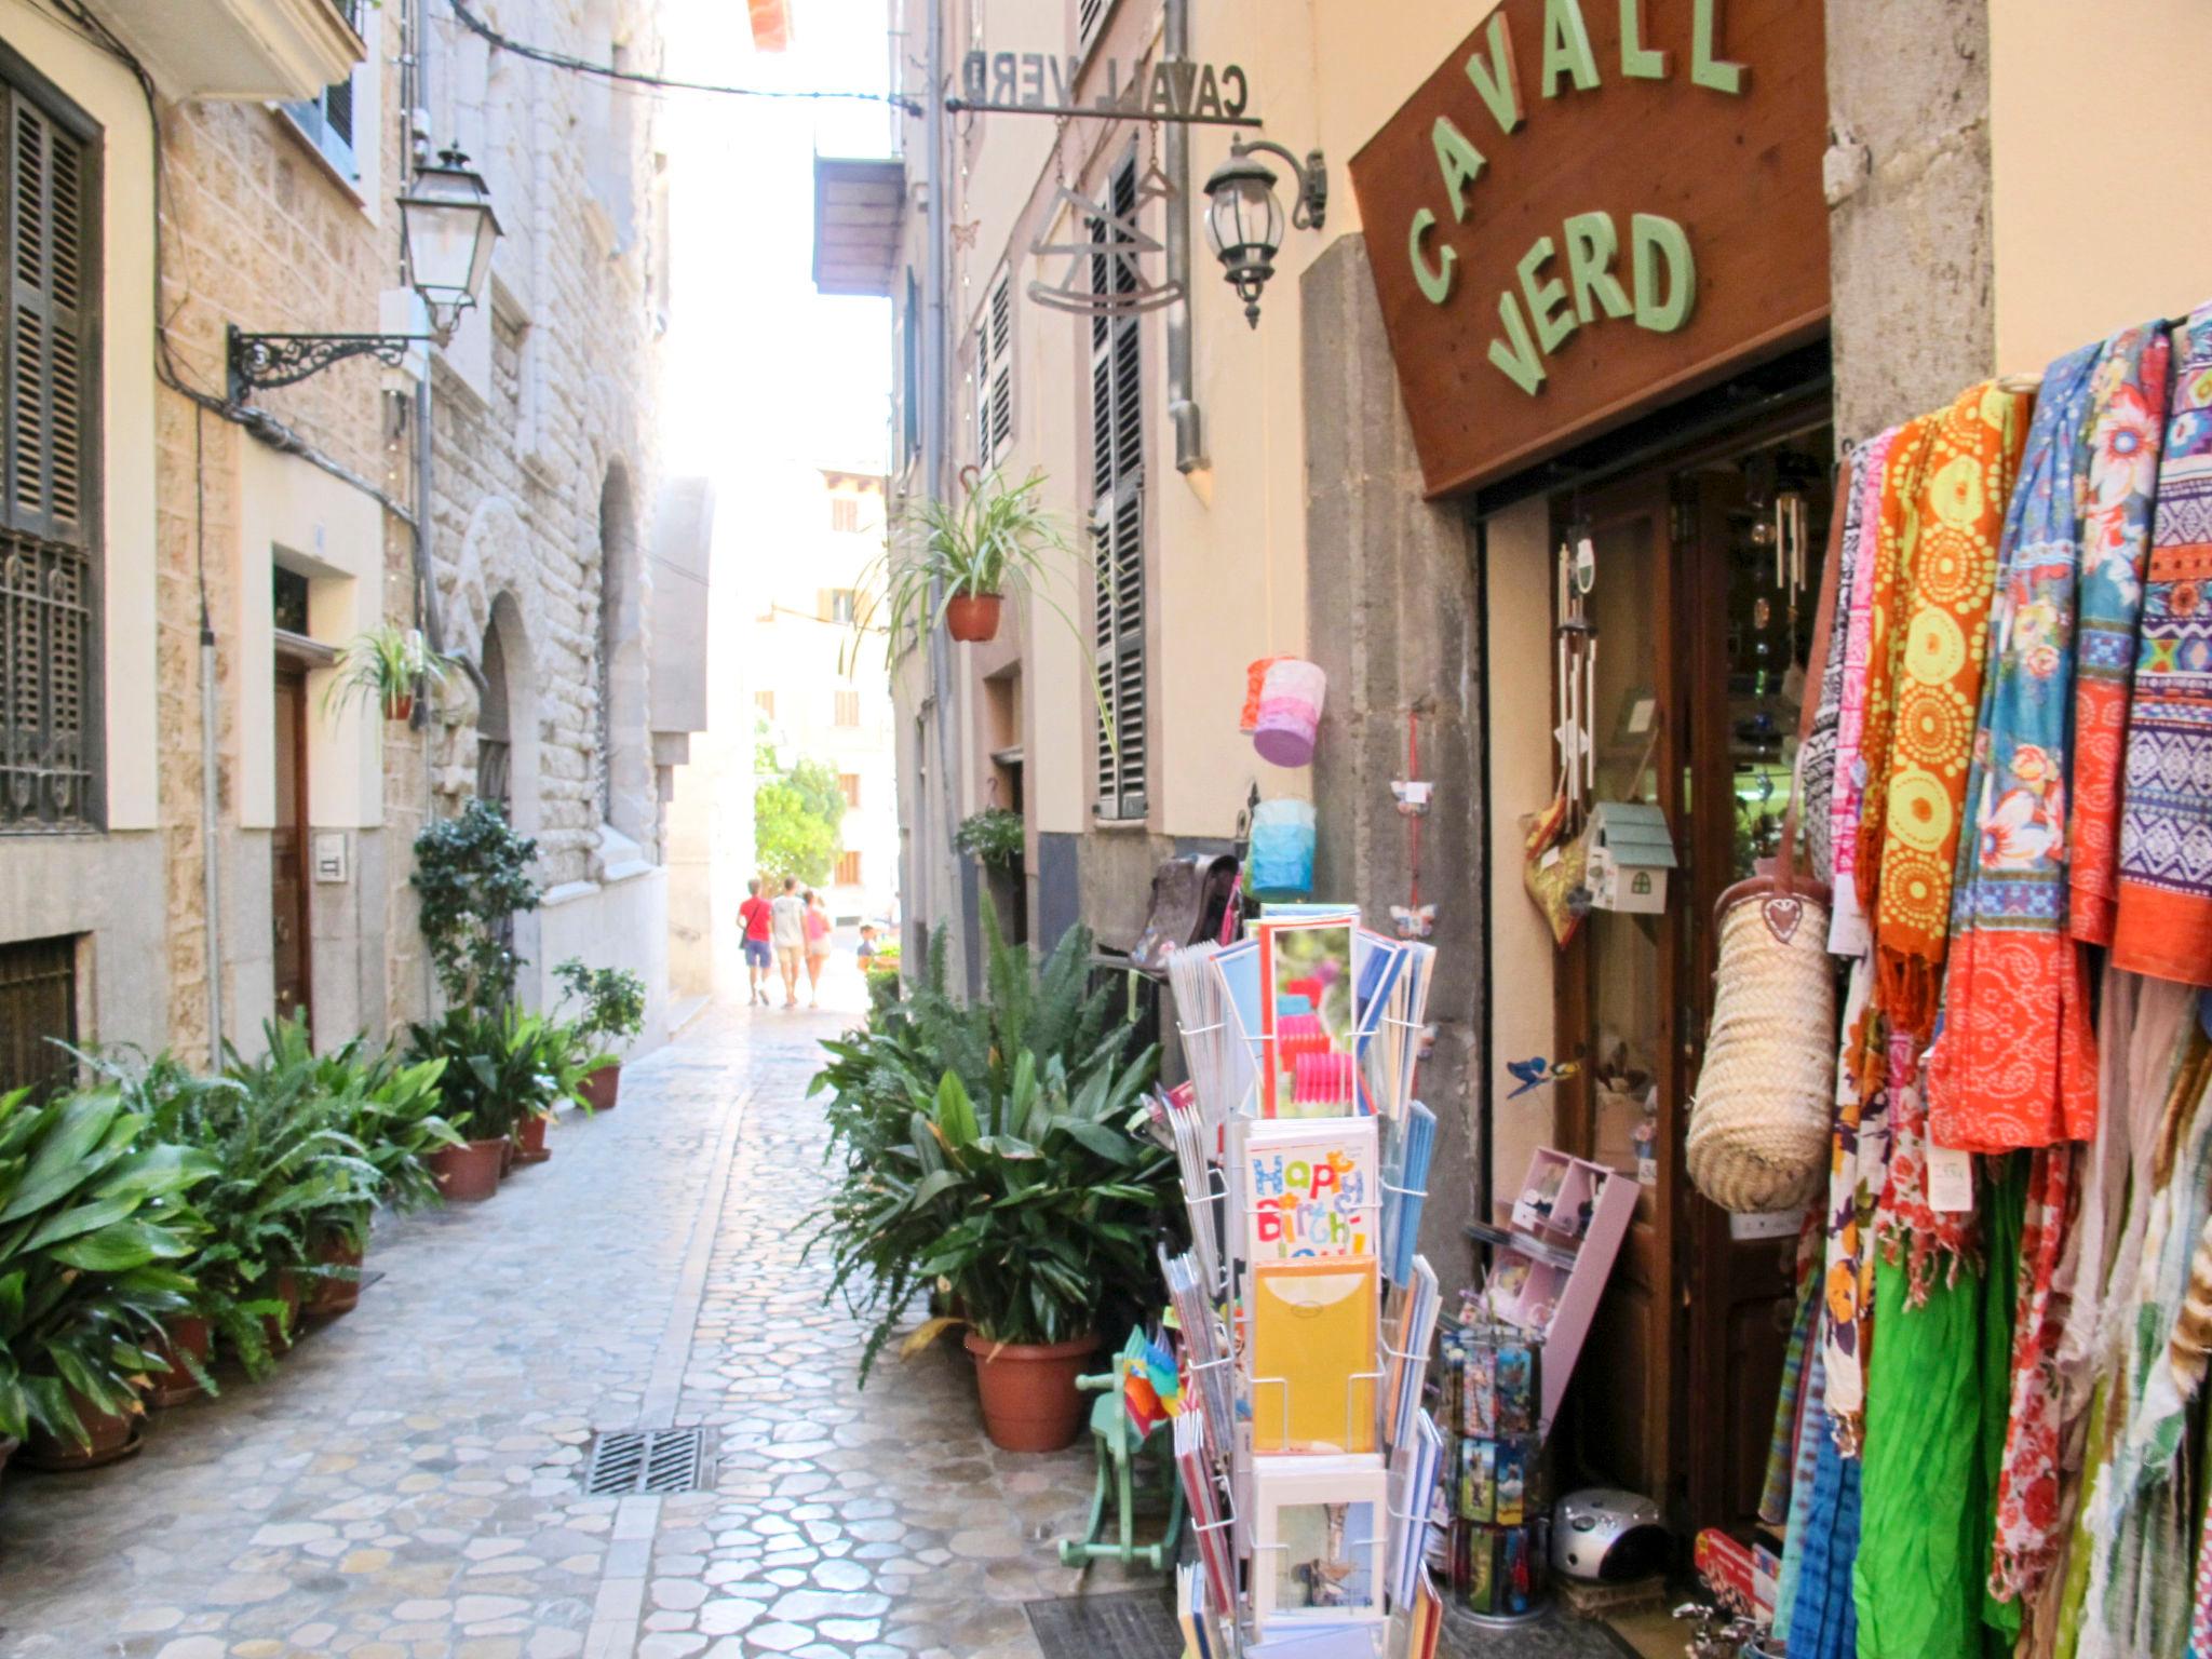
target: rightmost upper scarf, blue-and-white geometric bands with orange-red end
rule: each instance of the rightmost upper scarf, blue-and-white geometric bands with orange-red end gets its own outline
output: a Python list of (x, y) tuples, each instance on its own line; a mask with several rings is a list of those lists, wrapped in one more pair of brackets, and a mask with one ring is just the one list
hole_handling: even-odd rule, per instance
[(2212, 984), (2212, 307), (2174, 334), (2174, 400), (2128, 708), (2112, 960)]

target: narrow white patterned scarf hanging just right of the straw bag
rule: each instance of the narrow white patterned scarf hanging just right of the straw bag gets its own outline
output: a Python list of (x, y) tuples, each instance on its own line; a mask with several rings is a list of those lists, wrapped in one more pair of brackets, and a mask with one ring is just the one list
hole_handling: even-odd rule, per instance
[(1867, 1340), (1874, 1329), (1874, 1212), (1889, 1177), (1887, 1082), (1860, 1097), (1854, 1051), (1869, 1015), (1874, 964), (1858, 958), (1843, 1002), (1843, 1053), (1836, 1060), (1836, 1126), (1827, 1164), (1827, 1250), (1823, 1267), (1820, 1369), (1836, 1447), (1858, 1455), (1865, 1409)]

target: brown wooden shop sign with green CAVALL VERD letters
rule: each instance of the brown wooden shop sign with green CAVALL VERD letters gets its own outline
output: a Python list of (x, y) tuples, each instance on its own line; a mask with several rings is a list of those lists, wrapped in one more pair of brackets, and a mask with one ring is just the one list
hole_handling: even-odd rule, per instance
[(1823, 9), (1504, 0), (1352, 157), (1431, 495), (1818, 334)]

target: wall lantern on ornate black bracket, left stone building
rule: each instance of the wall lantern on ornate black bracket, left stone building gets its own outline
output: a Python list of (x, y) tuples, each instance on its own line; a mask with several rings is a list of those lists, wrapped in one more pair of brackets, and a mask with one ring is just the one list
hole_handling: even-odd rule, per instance
[(438, 166), (416, 168), (398, 199), (407, 279), (429, 312), (429, 334), (243, 334), (230, 330), (230, 400), (257, 389), (294, 385), (349, 356), (374, 356), (398, 367), (420, 341), (445, 345), (460, 314), (484, 296), (500, 217), (491, 210), (484, 177), (469, 157), (440, 150)]

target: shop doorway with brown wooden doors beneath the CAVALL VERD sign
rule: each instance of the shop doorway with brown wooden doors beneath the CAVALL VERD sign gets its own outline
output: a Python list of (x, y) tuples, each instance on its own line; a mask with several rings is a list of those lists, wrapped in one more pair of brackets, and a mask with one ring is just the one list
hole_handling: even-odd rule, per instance
[[(1639, 1181), (1566, 1436), (1577, 1475), (1747, 1533), (1794, 1310), (1796, 1219), (1730, 1219), (1681, 1146), (1712, 1013), (1714, 902), (1781, 843), (1832, 500), (1827, 400), (1551, 500), (1597, 549), (1595, 801), (1666, 814), (1657, 911), (1593, 909), (1559, 958), (1557, 1144)], [(1776, 522), (1803, 526), (1778, 568)]]

